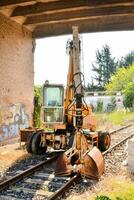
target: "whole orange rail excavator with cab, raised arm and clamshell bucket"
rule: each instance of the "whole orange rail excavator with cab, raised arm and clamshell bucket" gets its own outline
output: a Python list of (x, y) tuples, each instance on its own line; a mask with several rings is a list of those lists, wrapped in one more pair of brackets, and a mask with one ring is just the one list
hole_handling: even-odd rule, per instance
[[(69, 70), (67, 86), (43, 85), (43, 129), (29, 130), (27, 151), (45, 153), (48, 147), (66, 150), (57, 160), (56, 175), (81, 173), (98, 179), (104, 172), (101, 151), (110, 146), (110, 135), (96, 131), (96, 120), (84, 100), (84, 75), (81, 72), (81, 41), (78, 27), (73, 27), (73, 40), (67, 43)], [(21, 138), (25, 138), (21, 131)]]

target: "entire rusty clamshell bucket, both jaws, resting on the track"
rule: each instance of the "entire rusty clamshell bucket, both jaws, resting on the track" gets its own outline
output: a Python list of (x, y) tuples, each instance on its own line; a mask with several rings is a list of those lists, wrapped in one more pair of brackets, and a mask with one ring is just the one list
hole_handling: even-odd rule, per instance
[(89, 149), (85, 136), (78, 132), (72, 148), (58, 158), (55, 170), (58, 176), (80, 173), (92, 179), (99, 179), (103, 172), (102, 153), (97, 147)]

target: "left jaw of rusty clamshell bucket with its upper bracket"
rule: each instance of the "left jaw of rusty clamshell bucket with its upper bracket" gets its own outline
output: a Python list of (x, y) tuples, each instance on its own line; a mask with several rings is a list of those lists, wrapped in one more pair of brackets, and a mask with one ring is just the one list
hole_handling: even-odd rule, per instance
[(55, 174), (71, 175), (79, 172), (79, 166), (83, 163), (83, 156), (88, 152), (88, 143), (84, 134), (76, 132), (73, 146), (63, 153), (57, 160)]

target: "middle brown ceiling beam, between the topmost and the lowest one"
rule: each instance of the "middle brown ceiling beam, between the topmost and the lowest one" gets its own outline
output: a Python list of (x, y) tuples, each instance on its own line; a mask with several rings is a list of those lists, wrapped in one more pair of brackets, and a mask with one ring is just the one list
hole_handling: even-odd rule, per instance
[(79, 10), (72, 9), (71, 11), (64, 11), (51, 14), (41, 14), (35, 16), (29, 16), (24, 22), (24, 25), (37, 25), (37, 24), (52, 24), (59, 21), (67, 21), (75, 18), (98, 18), (109, 15), (129, 15), (134, 14), (134, 5), (133, 6), (117, 6), (117, 7), (107, 7), (105, 8), (83, 8)]

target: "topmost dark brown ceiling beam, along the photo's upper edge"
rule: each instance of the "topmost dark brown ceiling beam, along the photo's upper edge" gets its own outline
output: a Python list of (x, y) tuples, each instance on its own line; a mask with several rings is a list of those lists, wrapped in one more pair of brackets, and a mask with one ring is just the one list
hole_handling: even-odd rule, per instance
[(72, 8), (80, 8), (80, 7), (115, 7), (119, 5), (130, 5), (134, 4), (134, 0), (107, 0), (107, 1), (100, 1), (100, 0), (60, 0), (60, 1), (53, 1), (53, 2), (38, 2), (34, 5), (29, 6), (17, 6), (12, 14), (11, 17), (15, 16), (26, 16), (26, 15), (33, 15), (39, 14), (43, 12), (58, 12), (60, 10), (65, 9), (72, 9)]

